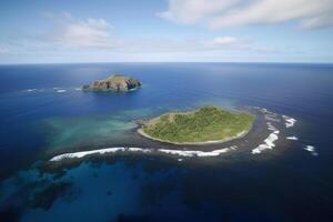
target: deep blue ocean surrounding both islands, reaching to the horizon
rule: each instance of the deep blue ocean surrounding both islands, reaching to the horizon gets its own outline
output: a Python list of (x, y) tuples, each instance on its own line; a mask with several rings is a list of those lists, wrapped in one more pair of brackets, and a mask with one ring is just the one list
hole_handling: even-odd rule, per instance
[[(113, 72), (143, 85), (130, 93), (78, 89)], [(332, 64), (1, 65), (0, 219), (332, 221)], [(203, 104), (254, 105), (293, 117), (290, 133), (299, 141), (218, 161), (124, 155), (83, 162), (59, 179), (32, 169), (51, 153), (130, 143), (133, 120)], [(61, 182), (70, 188), (53, 199), (49, 193), (47, 208), (31, 204), (33, 193)]]

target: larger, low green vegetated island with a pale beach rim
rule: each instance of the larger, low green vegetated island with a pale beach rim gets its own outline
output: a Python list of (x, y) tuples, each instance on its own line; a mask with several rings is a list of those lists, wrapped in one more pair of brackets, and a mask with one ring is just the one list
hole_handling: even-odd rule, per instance
[(225, 142), (245, 135), (254, 117), (218, 107), (202, 107), (186, 112), (168, 112), (141, 121), (138, 132), (149, 139), (173, 144)]

